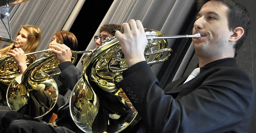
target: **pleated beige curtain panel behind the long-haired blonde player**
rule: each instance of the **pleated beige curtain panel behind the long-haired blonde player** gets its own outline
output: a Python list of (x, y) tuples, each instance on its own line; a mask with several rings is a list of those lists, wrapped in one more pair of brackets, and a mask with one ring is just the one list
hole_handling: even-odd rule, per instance
[[(36, 51), (48, 48), (54, 32), (69, 30), (85, 0), (28, 0), (10, 6), (10, 28), (12, 39), (24, 24), (38, 26), (42, 31)], [(42, 55), (35, 54), (38, 56)]]

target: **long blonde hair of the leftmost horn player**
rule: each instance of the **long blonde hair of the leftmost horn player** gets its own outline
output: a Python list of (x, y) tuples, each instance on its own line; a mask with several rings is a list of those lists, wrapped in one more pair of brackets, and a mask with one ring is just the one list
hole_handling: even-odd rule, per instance
[[(40, 42), (41, 39), (41, 30), (40, 28), (33, 26), (33, 25), (24, 25), (20, 28), (24, 29), (28, 32), (28, 43), (24, 46), (22, 46), (22, 50), (24, 52), (34, 52)], [(19, 35), (20, 30), (17, 32), (16, 37)], [(16, 38), (15, 37), (15, 38)], [(10, 52), (10, 50), (14, 49), (14, 44), (11, 44), (9, 46), (6, 46), (2, 49), (0, 49), (1, 56), (5, 56), (6, 52)]]

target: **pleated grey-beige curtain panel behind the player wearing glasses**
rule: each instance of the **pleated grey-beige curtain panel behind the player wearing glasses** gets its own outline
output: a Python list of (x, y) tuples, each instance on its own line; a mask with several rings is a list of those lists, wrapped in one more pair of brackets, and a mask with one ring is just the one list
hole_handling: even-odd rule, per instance
[[(141, 20), (144, 28), (158, 30), (165, 35), (178, 35), (193, 4), (194, 0), (114, 0), (100, 26), (122, 24), (134, 19)], [(99, 34), (99, 28), (95, 35)], [(168, 39), (169, 48), (172, 47), (174, 41), (175, 39)], [(94, 48), (95, 44), (92, 39), (86, 50)], [(192, 56), (191, 52), (188, 53), (190, 53), (188, 56)], [(184, 62), (189, 61), (184, 60)], [(161, 66), (162, 63), (151, 67), (156, 75)], [(82, 69), (81, 60), (77, 67)]]

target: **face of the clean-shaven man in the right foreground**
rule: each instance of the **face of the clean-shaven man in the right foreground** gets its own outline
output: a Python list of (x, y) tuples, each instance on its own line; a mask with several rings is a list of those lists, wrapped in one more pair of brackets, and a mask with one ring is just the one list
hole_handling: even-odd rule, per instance
[(233, 32), (228, 27), (227, 11), (228, 7), (216, 0), (202, 6), (193, 28), (193, 34), (199, 32), (201, 37), (192, 38), (198, 56), (218, 56), (221, 50), (232, 49), (229, 39)]

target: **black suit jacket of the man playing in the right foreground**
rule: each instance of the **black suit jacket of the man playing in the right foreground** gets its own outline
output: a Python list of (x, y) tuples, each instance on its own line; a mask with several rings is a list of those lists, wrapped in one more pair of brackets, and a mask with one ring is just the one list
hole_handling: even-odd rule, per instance
[[(142, 117), (140, 133), (246, 133), (254, 113), (254, 86), (234, 58), (200, 68), (164, 89), (146, 62), (122, 73), (119, 85)], [(183, 84), (184, 83), (184, 84)]]

